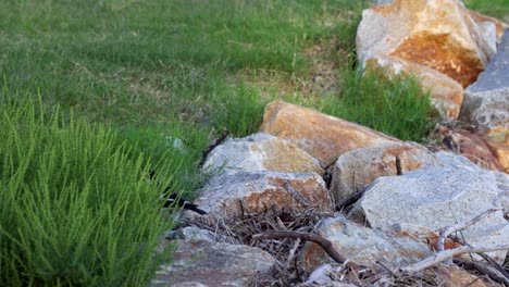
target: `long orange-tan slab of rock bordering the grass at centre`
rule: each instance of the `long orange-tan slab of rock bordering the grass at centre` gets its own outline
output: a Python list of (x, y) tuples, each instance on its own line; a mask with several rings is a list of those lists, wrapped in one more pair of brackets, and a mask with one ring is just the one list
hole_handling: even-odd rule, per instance
[(283, 101), (266, 105), (260, 132), (283, 138), (331, 165), (340, 154), (398, 139), (318, 111)]

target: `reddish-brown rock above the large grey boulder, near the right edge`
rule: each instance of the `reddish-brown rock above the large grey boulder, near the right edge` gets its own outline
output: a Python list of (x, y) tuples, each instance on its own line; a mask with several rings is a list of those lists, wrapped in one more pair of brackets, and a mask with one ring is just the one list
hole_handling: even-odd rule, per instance
[(442, 142), (449, 150), (462, 154), (483, 169), (504, 172), (504, 166), (492, 152), (485, 138), (464, 129), (440, 129), (444, 132)]

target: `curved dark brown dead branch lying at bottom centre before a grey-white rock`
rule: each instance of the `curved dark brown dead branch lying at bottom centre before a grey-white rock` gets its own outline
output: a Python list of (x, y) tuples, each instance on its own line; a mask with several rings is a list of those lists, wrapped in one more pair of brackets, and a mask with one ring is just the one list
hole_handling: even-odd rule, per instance
[(323, 251), (327, 253), (334, 261), (345, 264), (350, 269), (359, 269), (360, 266), (350, 262), (346, 257), (342, 255), (334, 248), (332, 242), (318, 234), (311, 233), (299, 233), (299, 232), (268, 232), (263, 234), (256, 234), (252, 236), (252, 240), (268, 240), (268, 239), (281, 239), (281, 238), (291, 238), (291, 239), (301, 239), (306, 241), (311, 241), (319, 245)]

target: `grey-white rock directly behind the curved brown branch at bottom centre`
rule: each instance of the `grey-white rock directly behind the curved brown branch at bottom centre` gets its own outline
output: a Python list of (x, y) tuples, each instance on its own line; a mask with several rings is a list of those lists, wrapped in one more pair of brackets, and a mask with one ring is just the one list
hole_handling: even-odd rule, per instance
[[(376, 261), (386, 266), (415, 263), (432, 254), (430, 248), (408, 237), (371, 229), (346, 220), (343, 215), (326, 219), (316, 226), (316, 233), (332, 241), (336, 250), (350, 261), (378, 270)], [(308, 270), (331, 262), (328, 255), (315, 244), (307, 242), (303, 263)]]

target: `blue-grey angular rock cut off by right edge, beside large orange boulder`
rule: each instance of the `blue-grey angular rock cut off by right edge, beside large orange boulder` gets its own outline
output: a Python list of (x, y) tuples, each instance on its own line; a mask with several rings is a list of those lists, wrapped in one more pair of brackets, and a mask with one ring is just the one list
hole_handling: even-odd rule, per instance
[(482, 129), (509, 128), (509, 30), (485, 71), (464, 90), (461, 117)]

